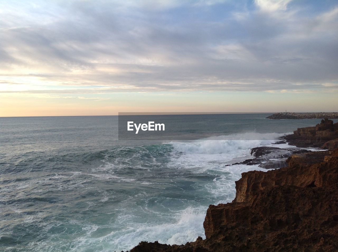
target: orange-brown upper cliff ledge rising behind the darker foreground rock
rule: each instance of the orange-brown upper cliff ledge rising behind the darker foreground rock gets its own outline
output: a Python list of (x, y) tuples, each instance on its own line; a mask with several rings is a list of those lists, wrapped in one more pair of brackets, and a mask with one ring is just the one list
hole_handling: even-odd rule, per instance
[[(337, 158), (331, 155), (335, 155), (335, 152), (319, 151), (292, 155), (286, 161), (288, 167), (267, 172), (242, 173), (242, 178), (235, 182), (236, 198), (234, 202), (248, 201), (254, 197), (258, 190), (274, 186), (323, 187), (337, 183), (335, 176), (327, 175), (334, 172), (337, 167)], [(329, 164), (327, 160), (330, 160)], [(328, 166), (332, 169), (324, 168)]]

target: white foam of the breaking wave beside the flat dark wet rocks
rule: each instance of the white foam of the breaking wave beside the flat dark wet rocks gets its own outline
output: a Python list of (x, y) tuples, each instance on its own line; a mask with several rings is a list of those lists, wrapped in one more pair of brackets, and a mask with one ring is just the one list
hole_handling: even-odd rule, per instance
[[(214, 175), (212, 183), (205, 185), (208, 193), (215, 197), (214, 203), (231, 202), (235, 198), (235, 181), (241, 173), (250, 170), (267, 171), (258, 165), (231, 165), (250, 159), (250, 149), (258, 146), (272, 145), (278, 137), (277, 133), (244, 133), (231, 136), (218, 136), (191, 142), (171, 142), (179, 153), (173, 156), (170, 167), (188, 169), (192, 173)], [(290, 145), (288, 145), (290, 147)]]

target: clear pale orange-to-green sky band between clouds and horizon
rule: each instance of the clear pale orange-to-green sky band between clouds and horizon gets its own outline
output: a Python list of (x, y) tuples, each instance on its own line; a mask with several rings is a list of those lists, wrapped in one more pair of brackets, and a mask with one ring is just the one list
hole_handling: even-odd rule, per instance
[[(82, 94), (83, 95), (83, 94)], [(268, 92), (113, 93), (83, 96), (14, 94), (0, 98), (0, 116), (117, 115), (119, 112), (336, 112), (336, 94)], [(90, 97), (93, 96), (93, 97)], [(328, 102), (323, 104), (324, 99)], [(312, 100), (312, 104), (306, 102)], [(328, 107), (327, 104), (331, 104)]]

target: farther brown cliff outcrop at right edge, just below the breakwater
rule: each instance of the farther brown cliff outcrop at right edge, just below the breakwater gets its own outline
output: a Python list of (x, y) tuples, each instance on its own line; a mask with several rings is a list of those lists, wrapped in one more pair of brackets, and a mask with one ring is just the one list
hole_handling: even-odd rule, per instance
[[(338, 123), (325, 118), (313, 127), (298, 128), (285, 137), (290, 145), (297, 147), (324, 147), (334, 149), (338, 144)], [(330, 142), (329, 142), (330, 141)]]

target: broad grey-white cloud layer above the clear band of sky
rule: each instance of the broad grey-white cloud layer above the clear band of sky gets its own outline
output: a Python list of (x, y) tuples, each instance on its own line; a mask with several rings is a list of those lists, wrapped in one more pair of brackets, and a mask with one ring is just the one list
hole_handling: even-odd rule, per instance
[(289, 3), (4, 1), (0, 85), (28, 86), (1, 92), (326, 92), (338, 80), (338, 7)]

